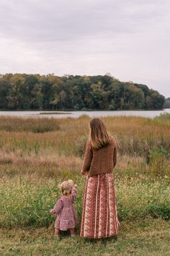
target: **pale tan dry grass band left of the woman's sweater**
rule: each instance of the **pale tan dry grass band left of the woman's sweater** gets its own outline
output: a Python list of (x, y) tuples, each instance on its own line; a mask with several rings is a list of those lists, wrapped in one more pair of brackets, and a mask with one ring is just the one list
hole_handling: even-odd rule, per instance
[[(38, 155), (34, 152), (27, 155), (21, 150), (15, 152), (1, 152), (0, 150), (0, 178), (3, 176), (27, 176), (35, 174), (38, 177), (54, 177), (78, 175), (82, 160), (79, 157), (58, 155), (53, 151), (41, 151)], [(66, 176), (66, 175), (65, 175)]]

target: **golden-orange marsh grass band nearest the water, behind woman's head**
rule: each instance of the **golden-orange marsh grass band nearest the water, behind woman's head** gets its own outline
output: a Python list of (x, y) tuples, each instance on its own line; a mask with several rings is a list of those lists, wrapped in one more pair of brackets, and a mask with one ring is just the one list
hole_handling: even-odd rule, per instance
[[(169, 119), (108, 116), (103, 118), (117, 138), (121, 155), (143, 156), (154, 147), (170, 153)], [(65, 155), (83, 155), (88, 137), (89, 117), (79, 119), (0, 117), (0, 148), (38, 154), (52, 148)]]

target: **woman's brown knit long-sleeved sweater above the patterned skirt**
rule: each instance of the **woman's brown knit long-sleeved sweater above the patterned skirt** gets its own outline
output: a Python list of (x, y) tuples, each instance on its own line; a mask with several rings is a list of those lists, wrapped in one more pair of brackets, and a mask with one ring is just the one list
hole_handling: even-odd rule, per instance
[(86, 152), (82, 170), (88, 171), (89, 176), (112, 173), (117, 163), (117, 145), (115, 139), (107, 147), (91, 150), (91, 142), (86, 142)]

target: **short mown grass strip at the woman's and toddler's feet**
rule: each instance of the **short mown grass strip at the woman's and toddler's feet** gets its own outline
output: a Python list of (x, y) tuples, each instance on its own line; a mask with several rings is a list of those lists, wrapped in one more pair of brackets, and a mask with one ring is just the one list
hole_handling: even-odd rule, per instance
[(53, 228), (1, 230), (2, 255), (75, 255), (75, 256), (169, 256), (170, 222), (147, 218), (122, 222), (117, 239), (91, 241), (63, 234), (59, 241)]

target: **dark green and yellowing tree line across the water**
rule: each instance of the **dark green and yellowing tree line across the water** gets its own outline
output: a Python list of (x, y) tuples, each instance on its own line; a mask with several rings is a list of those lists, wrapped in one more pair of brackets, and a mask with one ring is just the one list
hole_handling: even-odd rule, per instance
[(156, 90), (115, 77), (54, 74), (0, 76), (1, 110), (162, 109), (165, 98)]

